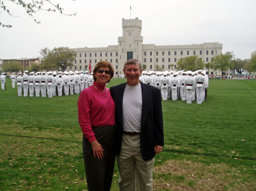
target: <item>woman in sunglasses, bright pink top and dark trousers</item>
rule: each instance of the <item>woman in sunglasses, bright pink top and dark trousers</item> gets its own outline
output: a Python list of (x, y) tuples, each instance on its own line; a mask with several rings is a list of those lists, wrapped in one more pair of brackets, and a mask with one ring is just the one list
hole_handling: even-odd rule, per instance
[(77, 103), (82, 129), (82, 151), (88, 190), (110, 190), (115, 163), (115, 104), (105, 84), (113, 78), (110, 62), (100, 61), (93, 70), (93, 85)]

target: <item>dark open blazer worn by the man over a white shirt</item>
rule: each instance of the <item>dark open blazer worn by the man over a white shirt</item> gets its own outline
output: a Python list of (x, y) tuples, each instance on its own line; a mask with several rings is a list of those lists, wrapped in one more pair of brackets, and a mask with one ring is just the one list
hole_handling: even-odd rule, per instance
[[(110, 87), (110, 94), (115, 102), (116, 149), (120, 154), (123, 135), (123, 92), (126, 83)], [(154, 147), (164, 145), (162, 97), (158, 88), (141, 83), (142, 116), (141, 116), (141, 153), (144, 160), (155, 156)], [(134, 97), (136, 99), (136, 97)]]

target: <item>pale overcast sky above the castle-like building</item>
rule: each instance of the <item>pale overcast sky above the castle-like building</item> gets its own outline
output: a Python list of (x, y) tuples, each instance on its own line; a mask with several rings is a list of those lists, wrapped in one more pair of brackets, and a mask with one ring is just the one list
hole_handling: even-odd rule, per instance
[(40, 24), (22, 7), (3, 2), (14, 16), (0, 10), (1, 22), (13, 26), (0, 27), (0, 59), (39, 57), (44, 47), (118, 45), (122, 18), (136, 17), (142, 20), (143, 44), (217, 42), (222, 53), (233, 52), (242, 60), (256, 50), (255, 0), (52, 0), (65, 14), (77, 14), (40, 11), (34, 15)]

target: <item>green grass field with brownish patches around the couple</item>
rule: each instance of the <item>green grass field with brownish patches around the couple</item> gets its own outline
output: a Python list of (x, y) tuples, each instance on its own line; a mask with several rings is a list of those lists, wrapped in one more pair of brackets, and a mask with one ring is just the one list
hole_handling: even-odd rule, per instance
[[(112, 79), (108, 87), (124, 82)], [(79, 95), (0, 90), (0, 190), (86, 190)], [(207, 101), (162, 101), (154, 190), (256, 190), (256, 80), (210, 80)], [(118, 188), (115, 165), (112, 190)]]

